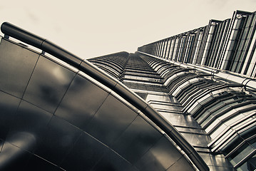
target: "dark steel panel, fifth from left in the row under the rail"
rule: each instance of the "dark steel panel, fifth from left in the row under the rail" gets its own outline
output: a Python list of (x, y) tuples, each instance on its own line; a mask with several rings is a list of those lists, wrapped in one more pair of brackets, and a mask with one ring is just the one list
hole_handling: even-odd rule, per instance
[(120, 138), (113, 143), (113, 150), (130, 163), (135, 164), (161, 136), (155, 128), (138, 115)]

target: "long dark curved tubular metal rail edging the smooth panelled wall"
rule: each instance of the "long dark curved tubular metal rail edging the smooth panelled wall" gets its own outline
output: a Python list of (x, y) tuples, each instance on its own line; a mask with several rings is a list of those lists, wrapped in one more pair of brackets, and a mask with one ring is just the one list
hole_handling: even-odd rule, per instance
[(65, 61), (69, 65), (78, 68), (78, 70), (83, 71), (88, 74), (88, 76), (91, 76), (97, 81), (103, 83), (103, 85), (108, 88), (111, 88), (113, 91), (118, 93), (118, 95), (121, 95), (122, 98), (138, 108), (138, 110), (142, 111), (148, 118), (150, 118), (150, 120), (153, 121), (153, 123), (155, 123), (155, 125), (158, 125), (158, 127), (162, 129), (166, 135), (168, 135), (186, 153), (186, 155), (188, 155), (190, 160), (196, 167), (198, 167), (199, 170), (209, 170), (208, 165), (205, 164), (202, 157), (200, 157), (198, 152), (196, 152), (195, 149), (183, 138), (183, 136), (178, 133), (178, 130), (176, 130), (173, 125), (170, 125), (170, 123), (162, 118), (154, 108), (145, 102), (145, 100), (131, 92), (116, 78), (103, 73), (101, 70), (96, 68), (96, 66), (93, 66), (93, 64), (86, 61), (86, 59), (78, 58), (78, 56), (73, 55), (45, 38), (36, 36), (34, 33), (25, 31), (13, 24), (4, 22), (1, 24), (1, 31), (8, 36), (23, 41), (24, 43), (40, 48), (42, 51)]

